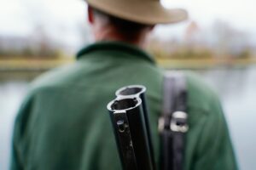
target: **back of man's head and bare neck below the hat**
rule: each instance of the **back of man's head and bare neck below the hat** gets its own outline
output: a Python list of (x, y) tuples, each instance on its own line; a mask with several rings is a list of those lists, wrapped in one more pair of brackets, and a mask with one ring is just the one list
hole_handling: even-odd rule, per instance
[(88, 13), (96, 41), (119, 40), (140, 43), (154, 27), (123, 20), (92, 7), (89, 7)]

